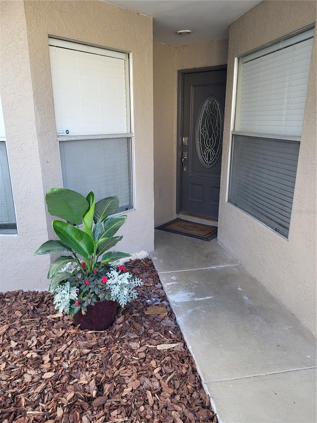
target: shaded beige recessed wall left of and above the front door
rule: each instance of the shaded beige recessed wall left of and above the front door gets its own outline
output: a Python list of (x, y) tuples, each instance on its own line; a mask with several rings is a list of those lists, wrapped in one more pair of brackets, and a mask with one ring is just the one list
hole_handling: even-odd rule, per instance
[(226, 64), (227, 56), (228, 40), (184, 47), (154, 43), (156, 226), (176, 217), (177, 71)]

